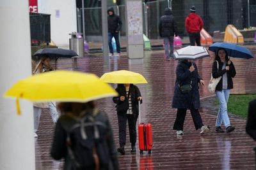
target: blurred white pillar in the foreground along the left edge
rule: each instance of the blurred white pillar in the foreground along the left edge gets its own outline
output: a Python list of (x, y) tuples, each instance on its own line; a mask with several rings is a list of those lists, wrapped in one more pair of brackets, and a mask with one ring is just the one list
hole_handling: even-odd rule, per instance
[(20, 100), (3, 98), (15, 82), (31, 76), (31, 47), (27, 0), (0, 3), (0, 169), (35, 169), (33, 107)]

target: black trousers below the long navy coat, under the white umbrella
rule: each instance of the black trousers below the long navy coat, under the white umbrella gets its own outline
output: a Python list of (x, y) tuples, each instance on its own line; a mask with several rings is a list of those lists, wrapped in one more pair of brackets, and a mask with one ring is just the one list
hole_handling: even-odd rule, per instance
[[(202, 118), (201, 115), (198, 111), (198, 109), (191, 108), (190, 109), (191, 116), (193, 118), (193, 122), (195, 125), (195, 129), (200, 129), (200, 127), (203, 126)], [(176, 115), (176, 120), (173, 125), (173, 130), (177, 131), (183, 131), (183, 125), (186, 117), (187, 109), (178, 109), (177, 110), (177, 115)]]

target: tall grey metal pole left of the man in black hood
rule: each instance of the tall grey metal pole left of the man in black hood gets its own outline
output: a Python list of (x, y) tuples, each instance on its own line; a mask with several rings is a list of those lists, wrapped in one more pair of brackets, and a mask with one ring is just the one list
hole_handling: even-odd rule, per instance
[(103, 57), (104, 66), (109, 65), (108, 57), (108, 15), (107, 15), (107, 1), (101, 0), (101, 20), (102, 20), (102, 47), (103, 47)]

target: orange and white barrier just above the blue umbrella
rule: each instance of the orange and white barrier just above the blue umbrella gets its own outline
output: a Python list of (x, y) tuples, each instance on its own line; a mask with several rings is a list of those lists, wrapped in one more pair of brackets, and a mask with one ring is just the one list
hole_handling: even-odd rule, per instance
[(226, 27), (225, 30), (225, 36), (224, 36), (224, 41), (229, 42), (229, 43), (239, 43), (243, 44), (244, 43), (244, 37), (239, 32), (234, 25), (229, 24)]

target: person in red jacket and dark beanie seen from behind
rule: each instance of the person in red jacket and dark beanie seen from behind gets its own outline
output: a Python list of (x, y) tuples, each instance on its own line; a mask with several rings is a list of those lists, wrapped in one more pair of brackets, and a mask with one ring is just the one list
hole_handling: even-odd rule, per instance
[(186, 17), (185, 27), (186, 31), (189, 34), (190, 45), (195, 46), (195, 41), (197, 46), (201, 46), (200, 43), (200, 31), (204, 26), (204, 22), (201, 17), (196, 15), (195, 6), (191, 6), (190, 14)]

